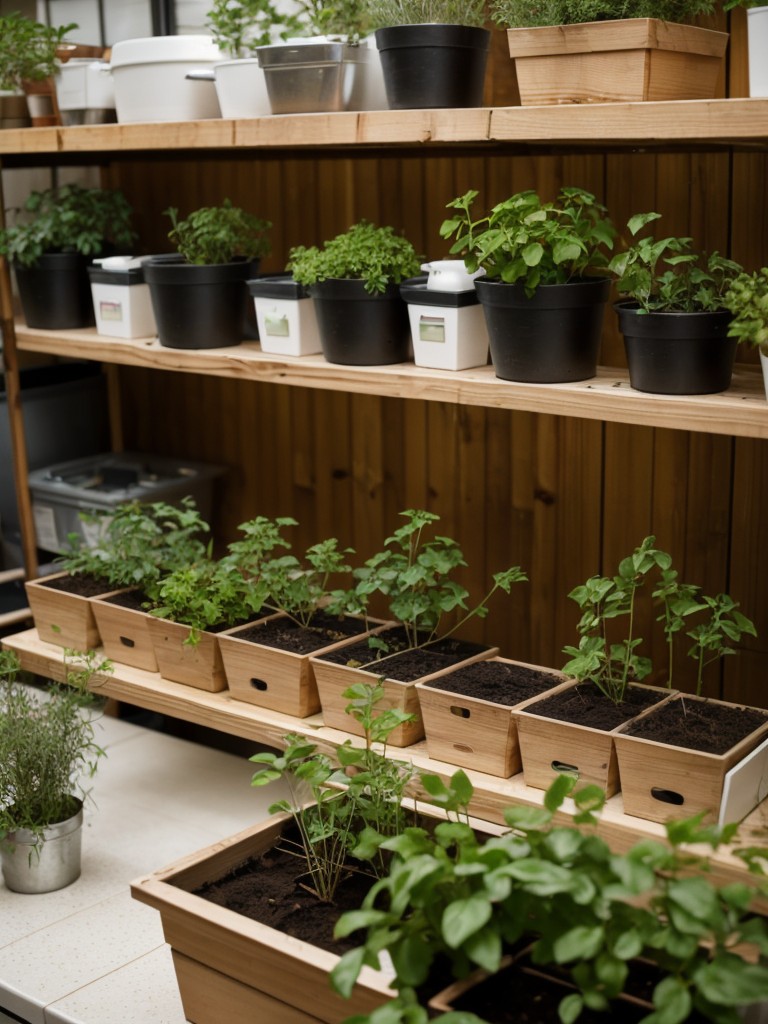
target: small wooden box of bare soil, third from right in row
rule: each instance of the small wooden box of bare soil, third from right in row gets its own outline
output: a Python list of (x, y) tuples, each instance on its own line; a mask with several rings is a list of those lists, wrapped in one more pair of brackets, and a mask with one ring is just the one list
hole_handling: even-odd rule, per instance
[(501, 778), (515, 775), (522, 763), (512, 709), (564, 681), (554, 669), (492, 657), (417, 683), (430, 758)]

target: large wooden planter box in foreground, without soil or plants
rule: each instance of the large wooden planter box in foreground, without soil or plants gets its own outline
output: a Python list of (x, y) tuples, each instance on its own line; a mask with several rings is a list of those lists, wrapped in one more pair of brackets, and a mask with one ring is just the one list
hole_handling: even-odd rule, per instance
[(131, 885), (134, 899), (160, 911), (194, 1024), (338, 1024), (394, 994), (380, 973), (364, 968), (344, 999), (329, 982), (338, 956), (194, 894), (269, 850), (286, 820), (275, 815)]

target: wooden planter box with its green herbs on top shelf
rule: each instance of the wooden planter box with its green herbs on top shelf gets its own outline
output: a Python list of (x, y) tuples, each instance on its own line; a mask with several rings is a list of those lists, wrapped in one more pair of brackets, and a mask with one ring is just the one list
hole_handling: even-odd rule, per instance
[(494, 0), (520, 100), (590, 103), (715, 96), (727, 32), (691, 22), (712, 0)]

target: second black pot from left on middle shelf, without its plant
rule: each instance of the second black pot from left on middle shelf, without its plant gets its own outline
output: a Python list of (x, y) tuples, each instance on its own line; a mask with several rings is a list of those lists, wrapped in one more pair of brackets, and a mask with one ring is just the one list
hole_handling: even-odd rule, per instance
[(152, 256), (144, 281), (167, 348), (223, 348), (254, 337), (253, 303), (246, 282), (258, 261), (197, 265), (174, 254)]

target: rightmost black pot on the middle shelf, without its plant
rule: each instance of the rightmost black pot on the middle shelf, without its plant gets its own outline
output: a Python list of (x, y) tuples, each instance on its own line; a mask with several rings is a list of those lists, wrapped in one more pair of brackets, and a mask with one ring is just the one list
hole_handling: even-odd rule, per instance
[(630, 384), (651, 394), (716, 394), (730, 387), (735, 338), (732, 314), (641, 313), (634, 302), (616, 302)]

